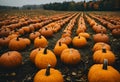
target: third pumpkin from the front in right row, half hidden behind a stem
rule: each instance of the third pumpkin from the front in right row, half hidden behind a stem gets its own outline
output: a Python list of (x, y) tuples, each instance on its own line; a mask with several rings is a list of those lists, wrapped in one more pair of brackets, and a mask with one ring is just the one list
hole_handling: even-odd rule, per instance
[(107, 43), (104, 42), (97, 42), (95, 43), (95, 45), (92, 48), (92, 51), (97, 51), (97, 50), (101, 50), (102, 48), (105, 48), (106, 50), (111, 50), (110, 45), (108, 45)]

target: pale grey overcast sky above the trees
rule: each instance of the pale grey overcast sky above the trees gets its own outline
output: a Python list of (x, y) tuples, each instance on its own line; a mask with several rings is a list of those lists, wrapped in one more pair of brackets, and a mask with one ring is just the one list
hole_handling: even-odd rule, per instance
[[(72, 0), (0, 0), (0, 5), (5, 6), (23, 6), (30, 4), (46, 4), (52, 2), (63, 2), (63, 1), (72, 1)], [(84, 1), (84, 0), (73, 0), (75, 2)], [(86, 0), (89, 1), (89, 0)]]

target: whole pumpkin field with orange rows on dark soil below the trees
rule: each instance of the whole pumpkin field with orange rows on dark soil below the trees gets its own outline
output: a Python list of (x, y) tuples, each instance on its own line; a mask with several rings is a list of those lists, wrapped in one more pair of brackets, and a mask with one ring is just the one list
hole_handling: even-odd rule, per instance
[(0, 82), (120, 82), (120, 12), (0, 11)]

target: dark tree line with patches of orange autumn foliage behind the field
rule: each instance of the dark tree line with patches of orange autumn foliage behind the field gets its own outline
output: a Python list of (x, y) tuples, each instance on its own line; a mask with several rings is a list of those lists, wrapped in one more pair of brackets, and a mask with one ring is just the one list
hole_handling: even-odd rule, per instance
[(120, 10), (120, 0), (98, 0), (98, 1), (64, 1), (63, 3), (49, 3), (43, 5), (47, 10), (59, 11), (113, 11)]

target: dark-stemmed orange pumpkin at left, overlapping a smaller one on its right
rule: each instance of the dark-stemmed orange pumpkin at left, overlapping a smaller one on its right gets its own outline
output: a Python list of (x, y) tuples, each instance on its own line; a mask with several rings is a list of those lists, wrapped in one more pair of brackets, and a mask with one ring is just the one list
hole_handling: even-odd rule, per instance
[(9, 49), (10, 50), (23, 50), (26, 48), (26, 42), (24, 42), (23, 38), (13, 38), (9, 42)]

